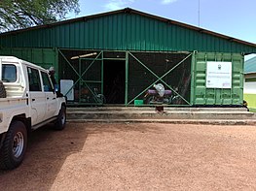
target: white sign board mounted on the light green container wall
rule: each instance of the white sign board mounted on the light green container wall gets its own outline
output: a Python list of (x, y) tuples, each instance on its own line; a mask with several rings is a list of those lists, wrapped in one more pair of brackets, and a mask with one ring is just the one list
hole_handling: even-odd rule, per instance
[(232, 62), (207, 62), (206, 88), (231, 88)]

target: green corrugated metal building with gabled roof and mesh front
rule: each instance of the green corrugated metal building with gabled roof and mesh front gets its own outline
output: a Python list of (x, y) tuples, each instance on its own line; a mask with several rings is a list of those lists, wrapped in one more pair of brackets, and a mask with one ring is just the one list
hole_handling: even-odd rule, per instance
[(55, 66), (72, 105), (147, 104), (147, 90), (161, 82), (170, 106), (238, 106), (243, 56), (256, 52), (255, 44), (129, 8), (2, 33), (0, 45), (2, 55)]

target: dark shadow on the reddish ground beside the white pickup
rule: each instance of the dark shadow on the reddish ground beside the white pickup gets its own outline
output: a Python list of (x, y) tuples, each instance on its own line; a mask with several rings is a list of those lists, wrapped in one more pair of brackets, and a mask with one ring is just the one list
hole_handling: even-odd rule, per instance
[(88, 134), (79, 124), (63, 131), (45, 126), (31, 133), (23, 163), (13, 171), (0, 170), (0, 190), (50, 190), (66, 157), (81, 151)]

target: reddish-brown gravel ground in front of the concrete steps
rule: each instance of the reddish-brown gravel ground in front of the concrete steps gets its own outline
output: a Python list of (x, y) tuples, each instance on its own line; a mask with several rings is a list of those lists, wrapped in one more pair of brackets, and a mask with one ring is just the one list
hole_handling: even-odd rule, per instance
[(0, 190), (256, 190), (256, 127), (68, 123), (32, 134)]

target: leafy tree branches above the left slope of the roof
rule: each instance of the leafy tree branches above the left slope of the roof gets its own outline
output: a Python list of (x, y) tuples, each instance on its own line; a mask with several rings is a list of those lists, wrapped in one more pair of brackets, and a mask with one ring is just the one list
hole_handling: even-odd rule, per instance
[(50, 24), (80, 12), (79, 0), (0, 0), (0, 31)]

